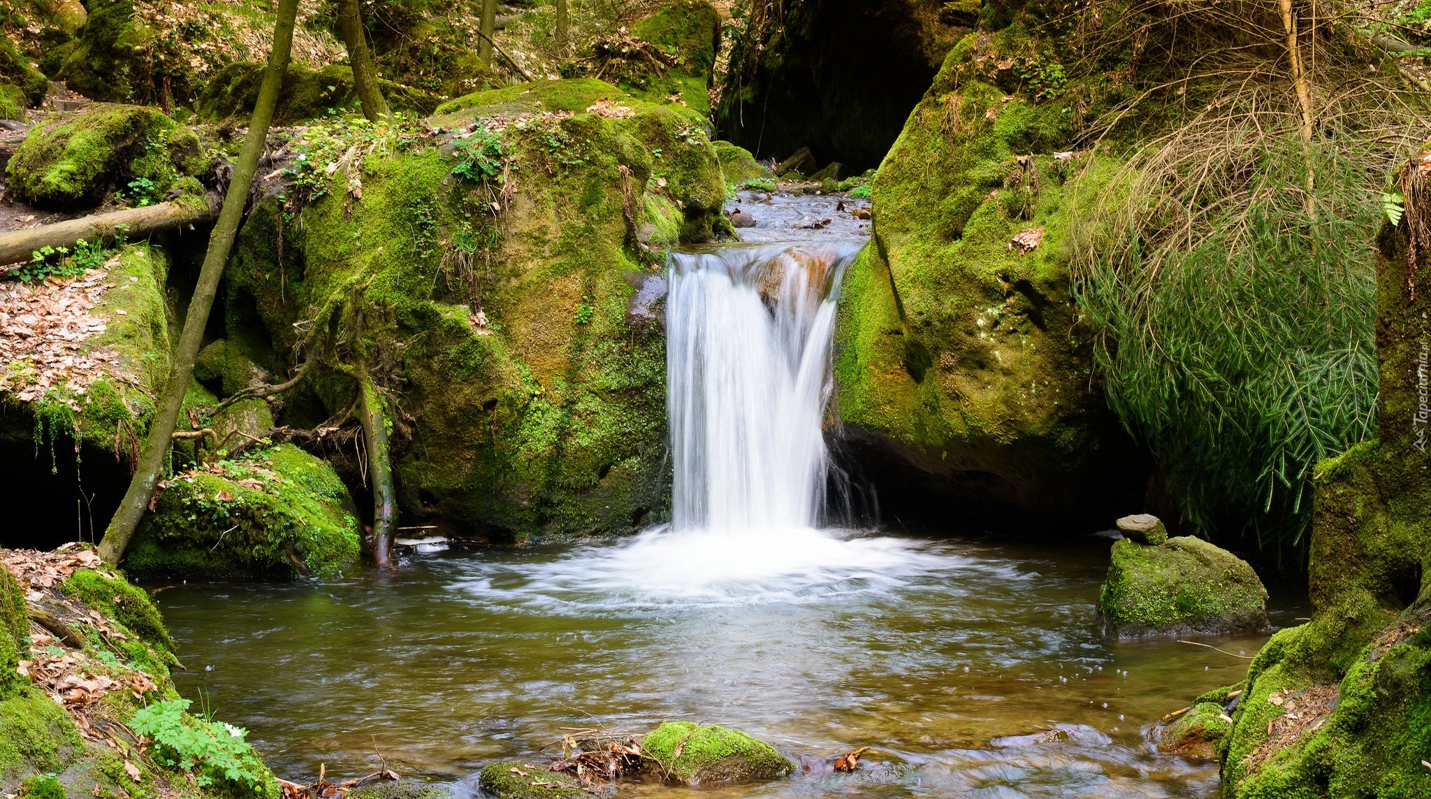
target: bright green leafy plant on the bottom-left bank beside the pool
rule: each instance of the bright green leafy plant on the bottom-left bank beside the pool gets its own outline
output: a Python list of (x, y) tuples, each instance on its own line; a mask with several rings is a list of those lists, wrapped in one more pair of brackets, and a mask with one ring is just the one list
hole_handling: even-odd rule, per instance
[(212, 775), (258, 785), (262, 763), (243, 740), (248, 730), (189, 716), (189, 704), (187, 699), (155, 702), (139, 709), (129, 726), (155, 742), (155, 760), (193, 773), (202, 788), (213, 785)]

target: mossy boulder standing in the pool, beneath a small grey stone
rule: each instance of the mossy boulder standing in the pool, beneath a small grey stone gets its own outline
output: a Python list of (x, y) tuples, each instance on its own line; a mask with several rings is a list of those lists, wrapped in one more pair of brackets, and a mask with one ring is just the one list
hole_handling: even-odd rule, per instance
[(1123, 540), (1113, 543), (1098, 611), (1118, 637), (1256, 631), (1266, 629), (1266, 589), (1245, 560), (1202, 538)]

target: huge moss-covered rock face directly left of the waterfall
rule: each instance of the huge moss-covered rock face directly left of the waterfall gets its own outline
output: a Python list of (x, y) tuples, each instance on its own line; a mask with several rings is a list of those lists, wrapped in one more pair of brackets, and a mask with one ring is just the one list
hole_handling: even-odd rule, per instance
[[(532, 116), (508, 122), (519, 115)], [(660, 261), (643, 232), (724, 229), (716, 150), (690, 109), (590, 79), (479, 92), (429, 125), (491, 119), (511, 196), (454, 173), (468, 158), (456, 145), (368, 158), (296, 213), (276, 198), (255, 210), (226, 272), (230, 314), (256, 309), (273, 352), (316, 318), (353, 336), (335, 358), (382, 359), (382, 379), (402, 381), (414, 421), (394, 420), (395, 473), (411, 518), (507, 540), (633, 533), (668, 507), (664, 341), (625, 318)], [(355, 388), (325, 367), (306, 391), (290, 405), (305, 427)]]

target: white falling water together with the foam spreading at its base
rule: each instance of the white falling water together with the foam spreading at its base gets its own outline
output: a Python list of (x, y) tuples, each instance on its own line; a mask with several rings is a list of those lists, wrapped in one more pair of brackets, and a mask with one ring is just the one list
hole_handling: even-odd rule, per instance
[[(807, 601), (989, 564), (909, 538), (821, 527), (836, 299), (859, 242), (671, 256), (671, 524), (474, 576), (542, 607)], [(522, 571), (518, 568), (518, 571)]]

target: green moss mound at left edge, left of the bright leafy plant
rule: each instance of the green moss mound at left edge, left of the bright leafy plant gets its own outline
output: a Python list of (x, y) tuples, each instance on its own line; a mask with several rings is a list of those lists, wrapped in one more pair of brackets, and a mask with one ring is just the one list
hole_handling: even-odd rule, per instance
[(0, 700), (0, 778), (62, 772), (84, 742), (69, 713), (53, 699), (26, 687)]

